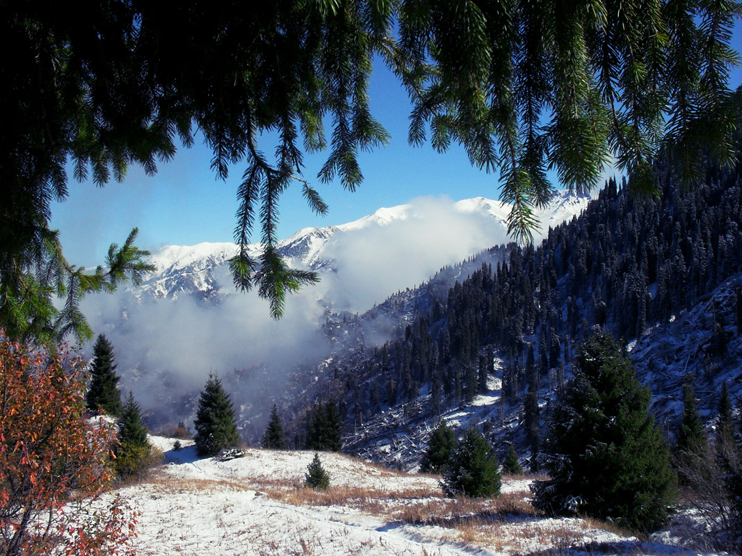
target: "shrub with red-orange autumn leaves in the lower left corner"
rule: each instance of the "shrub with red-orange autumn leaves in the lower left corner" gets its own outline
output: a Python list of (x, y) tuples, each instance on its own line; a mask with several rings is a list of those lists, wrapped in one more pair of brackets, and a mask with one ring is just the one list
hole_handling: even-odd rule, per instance
[(137, 514), (99, 500), (113, 478), (115, 430), (85, 418), (85, 369), (66, 347), (0, 332), (0, 553), (129, 552)]

